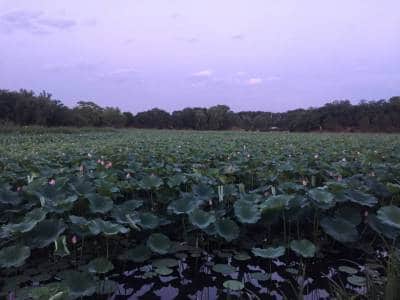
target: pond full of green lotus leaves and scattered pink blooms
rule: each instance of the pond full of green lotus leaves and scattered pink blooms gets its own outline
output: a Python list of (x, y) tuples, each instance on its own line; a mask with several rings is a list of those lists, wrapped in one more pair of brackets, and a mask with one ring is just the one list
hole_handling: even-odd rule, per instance
[(0, 135), (0, 296), (399, 299), (400, 136)]

